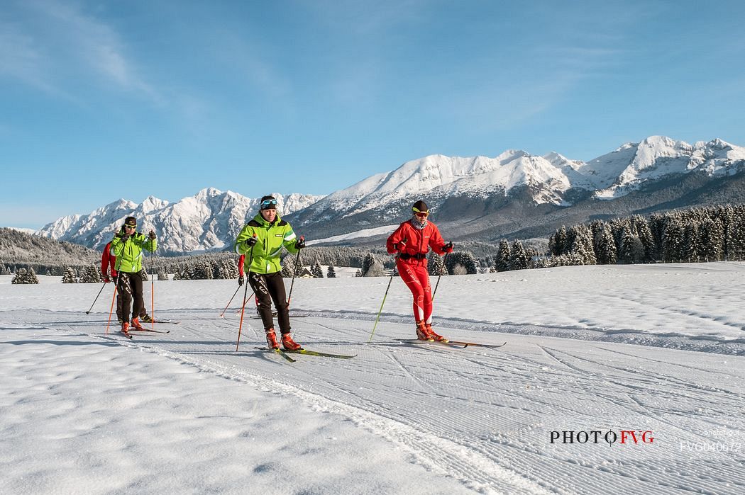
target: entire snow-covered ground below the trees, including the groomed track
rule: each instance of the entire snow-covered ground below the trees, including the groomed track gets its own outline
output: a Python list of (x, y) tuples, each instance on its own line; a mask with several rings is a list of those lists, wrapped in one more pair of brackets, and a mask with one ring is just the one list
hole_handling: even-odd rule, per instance
[(501, 349), (397, 341), (397, 278), (367, 343), (387, 278), (297, 279), (296, 340), (357, 356), (296, 363), (235, 352), (235, 281), (155, 282), (181, 323), (130, 341), (39, 279), (0, 276), (1, 494), (745, 492), (745, 264), (444, 276), (440, 333)]

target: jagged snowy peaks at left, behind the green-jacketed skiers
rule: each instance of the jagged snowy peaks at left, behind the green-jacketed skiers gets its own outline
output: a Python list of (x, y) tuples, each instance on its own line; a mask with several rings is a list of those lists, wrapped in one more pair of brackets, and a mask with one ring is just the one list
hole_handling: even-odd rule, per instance
[[(323, 196), (274, 194), (284, 215), (302, 210)], [(235, 240), (238, 232), (259, 210), (259, 198), (247, 198), (213, 187), (194, 196), (169, 203), (149, 196), (141, 204), (120, 199), (88, 215), (64, 216), (39, 230), (39, 234), (62, 241), (101, 249), (109, 242), (124, 218), (134, 216), (138, 230), (158, 233), (162, 253), (220, 250)]]

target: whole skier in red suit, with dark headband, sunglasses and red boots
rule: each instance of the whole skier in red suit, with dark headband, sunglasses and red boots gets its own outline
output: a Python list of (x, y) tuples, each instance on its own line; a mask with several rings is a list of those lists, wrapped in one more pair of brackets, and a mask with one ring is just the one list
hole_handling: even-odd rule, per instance
[(399, 225), (386, 243), (388, 253), (398, 253), (396, 268), (414, 297), (416, 338), (447, 342), (432, 330), (432, 288), (427, 272), (429, 248), (439, 254), (451, 253), (453, 243), (445, 243), (437, 225), (428, 221), (429, 209), (424, 201), (413, 204), (411, 219)]

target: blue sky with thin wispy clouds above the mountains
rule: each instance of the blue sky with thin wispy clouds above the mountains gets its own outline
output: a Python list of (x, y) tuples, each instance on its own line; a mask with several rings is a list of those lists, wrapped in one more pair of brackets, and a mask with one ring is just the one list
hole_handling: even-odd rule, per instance
[(745, 146), (741, 1), (57, 1), (0, 9), (0, 225), (415, 158)]

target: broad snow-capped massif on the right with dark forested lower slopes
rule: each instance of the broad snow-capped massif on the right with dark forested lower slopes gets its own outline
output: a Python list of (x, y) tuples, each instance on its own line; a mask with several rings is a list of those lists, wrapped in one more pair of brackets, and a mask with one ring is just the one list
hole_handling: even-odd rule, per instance
[[(336, 191), (288, 220), (310, 236), (332, 238), (402, 221), (413, 201), (424, 199), (437, 221), (451, 222), (464, 238), (543, 235), (550, 227), (541, 229), (540, 222), (553, 226), (562, 216), (584, 221), (598, 213), (592, 210), (607, 216), (617, 209), (622, 215), (642, 204), (655, 210), (652, 196), (640, 200), (635, 193), (663, 187), (670, 178), (696, 175), (708, 181), (744, 169), (745, 148), (719, 139), (691, 145), (661, 136), (626, 143), (589, 162), (522, 150), (495, 158), (430, 155)], [(690, 187), (693, 198), (698, 186)], [(674, 194), (657, 195), (668, 208), (682, 206)]]

